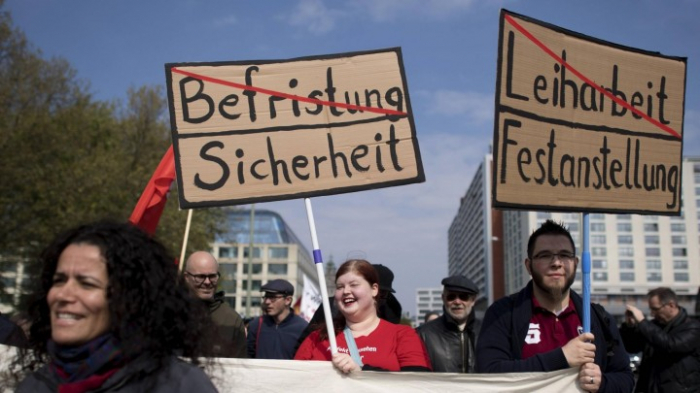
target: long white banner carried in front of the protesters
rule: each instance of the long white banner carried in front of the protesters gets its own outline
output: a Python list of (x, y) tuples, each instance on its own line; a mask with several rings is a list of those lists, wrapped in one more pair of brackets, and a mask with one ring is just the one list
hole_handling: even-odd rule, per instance
[[(14, 358), (0, 345), (0, 373)], [(206, 370), (219, 392), (557, 392), (580, 393), (578, 369), (549, 373), (456, 374), (423, 372), (338, 372), (331, 362), (267, 359), (215, 359)], [(321, 389), (321, 390), (319, 390)]]

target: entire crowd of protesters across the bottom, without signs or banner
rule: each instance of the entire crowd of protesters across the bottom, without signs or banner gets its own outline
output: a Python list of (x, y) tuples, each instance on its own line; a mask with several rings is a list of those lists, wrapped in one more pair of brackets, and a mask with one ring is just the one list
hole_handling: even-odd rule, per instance
[[(569, 231), (547, 221), (532, 233), (532, 280), (475, 317), (479, 288), (442, 280), (443, 309), (416, 329), (400, 324), (393, 272), (343, 263), (330, 300), (310, 323), (295, 315), (294, 286), (261, 287), (262, 315), (245, 323), (224, 300), (216, 258), (197, 251), (182, 274), (168, 251), (126, 223), (97, 222), (60, 234), (41, 255), (26, 312), (0, 315), (0, 343), (18, 347), (5, 387), (18, 392), (208, 392), (215, 358), (329, 361), (338, 372), (547, 372), (575, 368), (588, 392), (700, 392), (700, 321), (669, 288), (649, 292), (651, 319), (634, 305), (625, 321), (571, 289), (578, 257)], [(628, 351), (642, 352), (638, 380)]]

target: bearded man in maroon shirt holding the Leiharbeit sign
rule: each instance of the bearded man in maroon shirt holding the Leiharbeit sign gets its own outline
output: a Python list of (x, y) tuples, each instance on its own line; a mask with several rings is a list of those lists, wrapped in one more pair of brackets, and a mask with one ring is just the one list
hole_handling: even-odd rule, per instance
[(594, 305), (591, 332), (583, 333), (583, 301), (569, 289), (577, 267), (574, 241), (566, 228), (547, 220), (532, 233), (525, 258), (532, 280), (486, 310), (476, 347), (477, 372), (576, 367), (585, 391), (632, 391), (629, 357), (621, 345), (613, 344), (621, 340), (610, 314)]

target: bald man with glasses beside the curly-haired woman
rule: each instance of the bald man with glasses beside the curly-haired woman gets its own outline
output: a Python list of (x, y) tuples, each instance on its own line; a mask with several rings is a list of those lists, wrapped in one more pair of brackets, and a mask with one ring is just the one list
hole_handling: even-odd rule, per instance
[(243, 320), (224, 300), (224, 291), (216, 291), (219, 283), (219, 263), (210, 253), (196, 251), (187, 259), (185, 266), (185, 281), (207, 306), (216, 327), (216, 334), (212, 337), (211, 356), (246, 358)]

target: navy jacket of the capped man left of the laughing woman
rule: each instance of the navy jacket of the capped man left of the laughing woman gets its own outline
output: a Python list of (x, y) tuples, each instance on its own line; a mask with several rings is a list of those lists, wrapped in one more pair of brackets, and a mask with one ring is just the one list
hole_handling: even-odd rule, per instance
[[(262, 328), (260, 321), (262, 320)], [(257, 359), (294, 359), (297, 340), (308, 323), (304, 318), (289, 315), (279, 325), (269, 315), (253, 318), (248, 325), (248, 357)], [(258, 329), (260, 334), (258, 335)]]

